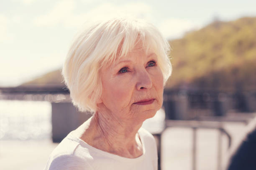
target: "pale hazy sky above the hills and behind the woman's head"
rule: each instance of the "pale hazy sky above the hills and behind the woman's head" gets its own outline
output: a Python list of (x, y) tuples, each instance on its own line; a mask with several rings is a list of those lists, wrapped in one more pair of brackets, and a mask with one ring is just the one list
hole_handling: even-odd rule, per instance
[(254, 17), (255, 7), (255, 0), (0, 0), (0, 87), (61, 68), (74, 35), (95, 18), (133, 15), (172, 40), (216, 18)]

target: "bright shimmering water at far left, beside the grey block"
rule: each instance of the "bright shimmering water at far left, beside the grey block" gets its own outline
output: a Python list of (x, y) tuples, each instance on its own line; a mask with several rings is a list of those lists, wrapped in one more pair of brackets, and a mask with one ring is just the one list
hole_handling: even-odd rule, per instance
[(51, 138), (51, 103), (0, 100), (0, 140)]

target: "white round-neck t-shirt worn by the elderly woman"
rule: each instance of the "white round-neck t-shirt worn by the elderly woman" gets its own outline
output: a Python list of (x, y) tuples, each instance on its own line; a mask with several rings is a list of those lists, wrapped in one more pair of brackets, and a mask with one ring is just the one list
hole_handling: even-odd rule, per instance
[(94, 148), (73, 131), (51, 153), (44, 170), (157, 170), (156, 141), (148, 131), (138, 130), (143, 155), (124, 158)]

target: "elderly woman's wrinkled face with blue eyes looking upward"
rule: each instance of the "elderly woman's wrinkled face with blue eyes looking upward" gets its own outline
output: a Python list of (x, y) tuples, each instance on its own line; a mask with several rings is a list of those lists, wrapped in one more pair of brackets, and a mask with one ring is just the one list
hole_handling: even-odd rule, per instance
[(161, 108), (164, 87), (157, 55), (146, 53), (141, 43), (112, 66), (103, 67), (100, 75), (100, 105), (119, 118), (144, 121)]

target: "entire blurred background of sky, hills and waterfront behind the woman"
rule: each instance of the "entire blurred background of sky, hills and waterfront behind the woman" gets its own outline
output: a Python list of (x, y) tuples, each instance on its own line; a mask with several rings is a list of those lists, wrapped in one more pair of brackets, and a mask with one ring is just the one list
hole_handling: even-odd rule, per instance
[[(169, 41), (163, 110), (144, 123), (162, 170), (224, 170), (256, 116), (256, 1), (0, 0), (0, 169), (43, 169), (90, 115), (61, 77), (72, 38), (93, 18), (131, 14)], [(160, 167), (159, 167), (160, 169)]]

